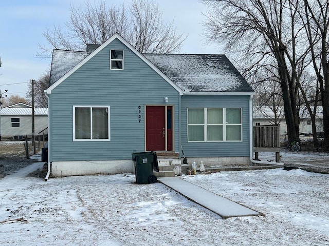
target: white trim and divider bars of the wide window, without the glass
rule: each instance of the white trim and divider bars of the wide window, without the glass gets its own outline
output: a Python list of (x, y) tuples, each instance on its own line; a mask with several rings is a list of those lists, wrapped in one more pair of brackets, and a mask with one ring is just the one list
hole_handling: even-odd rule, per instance
[[(204, 109), (204, 123), (203, 124), (189, 124), (189, 109)], [(223, 124), (207, 124), (207, 110), (208, 109), (223, 109)], [(241, 123), (240, 124), (228, 124), (226, 123), (226, 109), (240, 109), (241, 110)], [(208, 140), (208, 126), (223, 126), (223, 140)], [(189, 126), (204, 126), (204, 136), (203, 141), (190, 141), (189, 140)], [(226, 126), (241, 126), (241, 140), (226, 140)], [(188, 142), (242, 142), (243, 141), (243, 124), (242, 124), (242, 108), (187, 108), (187, 141)]]

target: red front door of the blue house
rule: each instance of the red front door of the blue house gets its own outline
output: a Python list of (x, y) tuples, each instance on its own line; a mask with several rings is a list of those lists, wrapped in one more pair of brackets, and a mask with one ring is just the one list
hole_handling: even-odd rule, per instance
[(146, 107), (146, 150), (166, 150), (166, 107)]

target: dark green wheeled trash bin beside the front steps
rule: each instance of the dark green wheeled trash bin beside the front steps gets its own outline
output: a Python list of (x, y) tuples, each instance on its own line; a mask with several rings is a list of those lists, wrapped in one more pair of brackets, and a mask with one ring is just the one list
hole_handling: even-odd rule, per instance
[(132, 153), (137, 183), (154, 183), (157, 181), (154, 171), (159, 171), (156, 152)]

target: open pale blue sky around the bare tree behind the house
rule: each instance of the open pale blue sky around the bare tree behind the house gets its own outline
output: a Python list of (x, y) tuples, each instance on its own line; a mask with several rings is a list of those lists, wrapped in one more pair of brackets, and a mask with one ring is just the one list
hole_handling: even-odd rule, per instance
[[(93, 1), (93, 0), (92, 0)], [(97, 1), (97, 0), (96, 0)], [(107, 5), (128, 4), (130, 0), (107, 1)], [(206, 7), (198, 0), (155, 0), (163, 19), (174, 20), (178, 32), (188, 34), (181, 53), (220, 54), (216, 45), (205, 45), (202, 21)], [(42, 33), (46, 27), (64, 27), (70, 5), (84, 6), (84, 0), (11, 0), (0, 3), (0, 90), (25, 96), (28, 81), (50, 69), (50, 59), (36, 57), (39, 44), (48, 45)]]

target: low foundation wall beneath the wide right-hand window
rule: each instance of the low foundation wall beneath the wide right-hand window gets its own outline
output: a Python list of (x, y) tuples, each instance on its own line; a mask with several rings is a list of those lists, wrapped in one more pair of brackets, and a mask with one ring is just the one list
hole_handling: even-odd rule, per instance
[[(181, 159), (181, 163), (183, 163)], [(187, 157), (187, 161), (189, 165), (192, 165), (192, 162), (195, 160), (197, 165), (199, 166), (201, 161), (203, 161), (205, 166), (246, 166), (251, 165), (251, 161), (249, 156), (241, 156), (241, 157)]]

